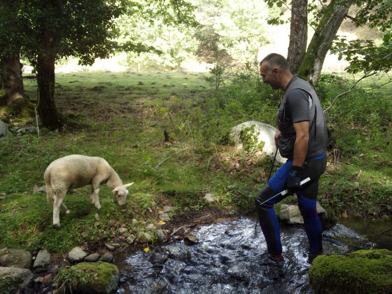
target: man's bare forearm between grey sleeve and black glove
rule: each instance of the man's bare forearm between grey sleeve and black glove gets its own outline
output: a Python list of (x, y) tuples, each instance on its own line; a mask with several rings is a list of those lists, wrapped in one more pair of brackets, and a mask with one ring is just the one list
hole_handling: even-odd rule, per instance
[(294, 143), (293, 166), (302, 167), (308, 151), (309, 142), (309, 122), (303, 121), (294, 123), (296, 139)]

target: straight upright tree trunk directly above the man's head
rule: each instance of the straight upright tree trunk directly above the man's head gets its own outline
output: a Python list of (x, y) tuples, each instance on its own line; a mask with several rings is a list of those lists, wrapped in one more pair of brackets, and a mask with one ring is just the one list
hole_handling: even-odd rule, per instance
[(308, 1), (292, 1), (290, 42), (287, 62), (292, 73), (297, 73), (306, 52), (308, 40)]

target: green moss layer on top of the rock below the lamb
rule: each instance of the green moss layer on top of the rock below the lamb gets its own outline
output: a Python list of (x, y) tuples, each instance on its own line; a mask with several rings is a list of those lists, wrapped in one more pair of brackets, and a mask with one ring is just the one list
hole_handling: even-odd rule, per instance
[(119, 270), (115, 265), (101, 261), (82, 262), (61, 269), (56, 280), (59, 285), (64, 284), (65, 289), (69, 288), (71, 291), (88, 286), (99, 292), (110, 287), (112, 277), (116, 274), (119, 274)]

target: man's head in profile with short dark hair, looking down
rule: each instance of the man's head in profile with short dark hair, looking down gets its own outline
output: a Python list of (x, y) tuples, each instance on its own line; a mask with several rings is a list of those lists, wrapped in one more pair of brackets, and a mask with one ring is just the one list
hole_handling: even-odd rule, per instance
[(260, 74), (263, 82), (269, 84), (272, 90), (285, 90), (291, 77), (286, 58), (277, 53), (268, 54), (260, 62)]

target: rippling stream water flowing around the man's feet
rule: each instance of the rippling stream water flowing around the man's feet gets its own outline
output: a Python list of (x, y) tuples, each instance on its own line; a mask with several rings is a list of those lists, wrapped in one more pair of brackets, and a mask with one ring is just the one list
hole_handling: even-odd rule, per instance
[[(192, 231), (198, 243), (178, 241), (117, 261), (117, 293), (314, 293), (308, 283), (307, 237), (300, 226), (281, 228), (282, 269), (258, 264), (267, 245), (256, 219), (215, 223)], [(375, 244), (338, 223), (323, 232), (325, 254), (370, 249)], [(166, 256), (166, 259), (164, 258)]]

